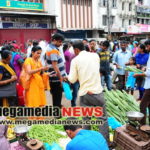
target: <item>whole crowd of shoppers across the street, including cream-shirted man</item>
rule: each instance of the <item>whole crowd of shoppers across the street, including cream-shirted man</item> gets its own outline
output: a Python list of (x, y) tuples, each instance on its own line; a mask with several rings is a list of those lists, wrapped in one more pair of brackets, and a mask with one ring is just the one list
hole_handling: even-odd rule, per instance
[[(141, 124), (146, 123), (146, 109), (150, 112), (149, 51), (150, 40), (144, 44), (87, 39), (67, 42), (59, 33), (52, 36), (50, 44), (29, 40), (26, 55), (19, 52), (16, 43), (5, 44), (0, 51), (0, 106), (46, 106), (45, 90), (49, 90), (53, 106), (61, 108), (62, 82), (66, 81), (72, 89), (72, 107), (76, 106), (78, 91), (80, 106), (103, 107), (100, 119), (104, 124), (99, 129), (108, 140), (105, 87), (131, 91), (132, 95), (138, 89), (140, 109), (145, 115)], [(128, 65), (143, 73), (125, 71)]]

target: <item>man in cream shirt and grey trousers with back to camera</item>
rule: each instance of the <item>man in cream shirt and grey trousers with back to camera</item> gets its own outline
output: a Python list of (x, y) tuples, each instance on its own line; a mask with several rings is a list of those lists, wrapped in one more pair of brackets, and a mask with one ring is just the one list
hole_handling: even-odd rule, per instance
[(73, 48), (76, 57), (71, 62), (68, 80), (71, 83), (79, 81), (80, 106), (99, 106), (103, 108), (104, 122), (99, 126), (100, 132), (108, 140), (108, 122), (105, 111), (105, 100), (102, 93), (100, 82), (100, 59), (96, 53), (90, 53), (84, 50), (82, 41), (75, 41)]

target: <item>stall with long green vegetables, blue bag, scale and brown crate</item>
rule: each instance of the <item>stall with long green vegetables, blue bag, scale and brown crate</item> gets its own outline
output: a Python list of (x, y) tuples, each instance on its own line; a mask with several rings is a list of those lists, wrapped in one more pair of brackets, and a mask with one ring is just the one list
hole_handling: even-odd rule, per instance
[[(144, 114), (140, 113), (139, 103), (125, 91), (108, 91), (105, 99), (109, 118), (111, 141), (116, 150), (150, 150), (150, 126), (140, 125)], [(148, 113), (147, 113), (148, 114)]]

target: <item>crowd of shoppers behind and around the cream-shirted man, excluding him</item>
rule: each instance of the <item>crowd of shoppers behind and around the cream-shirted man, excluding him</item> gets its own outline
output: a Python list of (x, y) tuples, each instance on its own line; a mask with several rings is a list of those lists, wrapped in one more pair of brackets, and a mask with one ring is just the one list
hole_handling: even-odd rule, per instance
[[(44, 90), (51, 89), (53, 105), (61, 108), (63, 92), (61, 82), (65, 76), (69, 75), (71, 62), (76, 57), (73, 42), (64, 42), (64, 40), (61, 34), (55, 34), (50, 44), (42, 39), (40, 41), (28, 40), (25, 54), (19, 51), (16, 41), (3, 43), (0, 51), (0, 85), (2, 93), (0, 98), (3, 99), (0, 101), (1, 106), (3, 104), (7, 105), (7, 102), (10, 106), (44, 106), (46, 105)], [(117, 88), (127, 92), (131, 91), (132, 95), (134, 90), (138, 89), (138, 100), (143, 98), (145, 77), (138, 76), (135, 78), (136, 75), (125, 71), (125, 68), (129, 65), (133, 68), (145, 69), (149, 59), (147, 45), (140, 44), (137, 41), (97, 42), (96, 40), (88, 41), (87, 39), (83, 39), (82, 43), (85, 51), (96, 53), (99, 56), (99, 72), (103, 89), (106, 85), (108, 90)], [(87, 74), (90, 76), (90, 72)], [(131, 79), (134, 81), (132, 85), (128, 81)], [(15, 84), (16, 88), (13, 87)], [(77, 80), (70, 83), (70, 86), (73, 91), (71, 106), (74, 107), (76, 106), (77, 93), (79, 87), (81, 88), (81, 84)], [(10, 92), (10, 89), (13, 90)], [(43, 91), (43, 94), (39, 91)]]

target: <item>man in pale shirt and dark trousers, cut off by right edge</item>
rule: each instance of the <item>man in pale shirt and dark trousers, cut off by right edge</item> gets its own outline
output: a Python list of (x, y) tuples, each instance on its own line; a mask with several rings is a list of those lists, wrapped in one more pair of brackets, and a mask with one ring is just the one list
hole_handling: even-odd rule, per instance
[[(150, 40), (145, 42), (145, 46), (147, 50), (150, 52)], [(149, 116), (150, 116), (150, 55), (146, 66), (146, 71), (143, 74), (135, 74), (134, 77), (143, 76), (145, 77), (145, 92), (140, 103), (140, 111), (144, 114), (144, 118), (141, 120), (141, 124), (146, 124), (146, 108), (149, 109)], [(149, 117), (149, 124), (150, 124), (150, 117)]]

